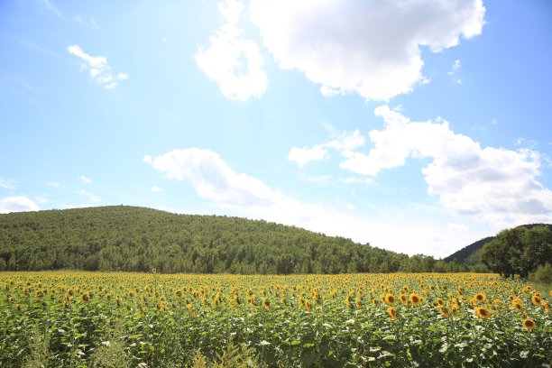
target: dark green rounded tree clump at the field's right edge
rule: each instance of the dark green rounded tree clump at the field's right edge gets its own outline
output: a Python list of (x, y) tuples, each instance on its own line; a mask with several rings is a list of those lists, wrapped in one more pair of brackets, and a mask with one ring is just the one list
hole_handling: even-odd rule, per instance
[(552, 230), (547, 225), (502, 230), (483, 245), (481, 257), (491, 271), (527, 278), (531, 271), (552, 259)]

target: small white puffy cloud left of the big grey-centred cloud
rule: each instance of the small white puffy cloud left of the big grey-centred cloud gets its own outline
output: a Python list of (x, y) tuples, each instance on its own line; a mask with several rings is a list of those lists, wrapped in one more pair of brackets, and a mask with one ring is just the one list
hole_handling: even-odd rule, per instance
[(268, 78), (262, 69), (262, 55), (257, 44), (244, 39), (238, 28), (244, 4), (226, 0), (218, 4), (224, 23), (209, 38), (207, 50), (199, 48), (195, 55), (198, 68), (216, 81), (222, 94), (229, 99), (245, 101), (261, 97)]

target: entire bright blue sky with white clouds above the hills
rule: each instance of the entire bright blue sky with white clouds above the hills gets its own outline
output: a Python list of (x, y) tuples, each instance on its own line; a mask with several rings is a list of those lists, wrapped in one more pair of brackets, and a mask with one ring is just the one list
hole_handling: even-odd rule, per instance
[(552, 5), (4, 1), (0, 213), (133, 205), (444, 257), (552, 221)]

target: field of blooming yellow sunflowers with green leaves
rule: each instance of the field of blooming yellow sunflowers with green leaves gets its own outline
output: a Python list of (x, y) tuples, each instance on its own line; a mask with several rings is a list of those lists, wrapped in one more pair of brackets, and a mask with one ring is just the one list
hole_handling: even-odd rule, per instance
[(550, 366), (540, 291), (481, 274), (0, 272), (0, 366)]

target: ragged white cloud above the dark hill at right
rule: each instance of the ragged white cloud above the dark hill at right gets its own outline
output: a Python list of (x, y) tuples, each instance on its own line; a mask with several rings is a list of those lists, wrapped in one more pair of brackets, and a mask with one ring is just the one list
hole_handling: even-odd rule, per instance
[(343, 169), (375, 176), (408, 158), (429, 158), (422, 169), (428, 194), (438, 196), (444, 207), (494, 225), (552, 221), (552, 191), (537, 180), (542, 165), (538, 152), (482, 148), (442, 119), (410, 122), (388, 106), (376, 108), (375, 115), (385, 127), (369, 133), (373, 148), (345, 157)]

